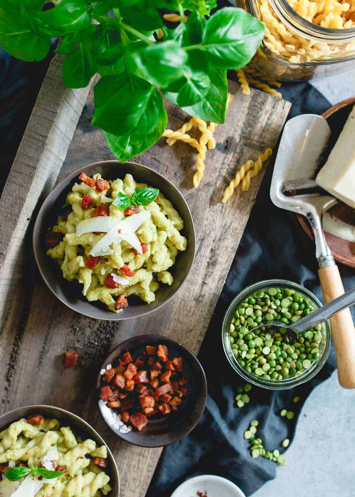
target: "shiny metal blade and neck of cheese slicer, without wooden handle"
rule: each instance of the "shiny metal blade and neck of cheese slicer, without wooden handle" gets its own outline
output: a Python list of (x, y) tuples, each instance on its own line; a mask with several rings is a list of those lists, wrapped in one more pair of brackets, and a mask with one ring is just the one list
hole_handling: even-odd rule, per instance
[(287, 195), (290, 189), (317, 186), (314, 181), (323, 151), (331, 131), (327, 121), (314, 114), (290, 119), (284, 128), (272, 174), (270, 197), (281, 209), (303, 214), (308, 219), (316, 242), (319, 267), (334, 265), (334, 259), (324, 238), (323, 213), (338, 200), (317, 192)]

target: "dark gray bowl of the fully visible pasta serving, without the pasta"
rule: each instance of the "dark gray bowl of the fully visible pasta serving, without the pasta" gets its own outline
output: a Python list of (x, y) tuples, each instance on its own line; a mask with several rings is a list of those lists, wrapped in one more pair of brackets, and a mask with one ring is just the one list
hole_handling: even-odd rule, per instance
[[(187, 239), (187, 248), (184, 252), (178, 253), (176, 262), (170, 269), (174, 276), (173, 284), (171, 286), (162, 284), (156, 292), (156, 300), (151, 304), (141, 301), (138, 297), (131, 297), (128, 300), (129, 306), (123, 312), (116, 314), (109, 311), (101, 302), (89, 302), (81, 293), (82, 285), (76, 280), (67, 281), (64, 279), (57, 261), (46, 255), (47, 231), (56, 224), (59, 211), (65, 204), (68, 192), (72, 189), (74, 183), (78, 181), (78, 176), (83, 171), (88, 176), (99, 172), (105, 179), (123, 179), (126, 173), (130, 173), (138, 182), (148, 183), (159, 188), (164, 196), (172, 202), (183, 219), (184, 228), (181, 233)], [(130, 162), (121, 164), (118, 161), (104, 161), (90, 164), (73, 172), (48, 195), (43, 202), (33, 228), (33, 250), (44, 281), (63, 304), (90, 318), (120, 321), (137, 318), (155, 311), (173, 297), (188, 275), (194, 259), (195, 230), (185, 199), (177, 188), (159, 172)]]

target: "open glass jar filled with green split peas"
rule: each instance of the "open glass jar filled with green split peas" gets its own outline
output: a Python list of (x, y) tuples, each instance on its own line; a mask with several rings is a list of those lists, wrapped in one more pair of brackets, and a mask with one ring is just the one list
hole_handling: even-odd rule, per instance
[(330, 323), (298, 336), (286, 327), (321, 306), (313, 293), (292, 281), (272, 279), (247, 287), (230, 303), (222, 323), (229, 363), (247, 382), (269, 390), (310, 380), (329, 356)]

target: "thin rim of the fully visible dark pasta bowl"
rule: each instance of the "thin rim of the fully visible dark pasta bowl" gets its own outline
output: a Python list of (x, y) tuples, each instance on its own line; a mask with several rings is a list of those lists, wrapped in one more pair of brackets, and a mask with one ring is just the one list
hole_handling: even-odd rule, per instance
[[(107, 318), (97, 317), (97, 316), (92, 316), (91, 314), (84, 313), (83, 311), (78, 310), (74, 305), (71, 305), (70, 303), (65, 302), (61, 297), (59, 297), (59, 295), (57, 295), (57, 293), (54, 291), (54, 289), (50, 286), (49, 282), (47, 281), (46, 276), (44, 275), (44, 273), (42, 271), (41, 264), (40, 264), (40, 262), (38, 260), (37, 251), (36, 251), (36, 240), (37, 240), (37, 237), (35, 237), (35, 232), (36, 232), (37, 224), (39, 223), (40, 214), (42, 213), (42, 211), (45, 211), (45, 209), (46, 209), (46, 205), (47, 205), (48, 199), (50, 197), (52, 198), (53, 196), (55, 196), (54, 193), (57, 193), (57, 190), (60, 188), (60, 186), (62, 185), (63, 181), (66, 181), (69, 178), (72, 181), (75, 178), (75, 176), (78, 175), (78, 173), (83, 172), (83, 171), (85, 172), (85, 170), (87, 168), (93, 167), (93, 166), (102, 166), (102, 165), (105, 165), (105, 164), (118, 164), (120, 166), (123, 165), (121, 162), (115, 161), (115, 160), (93, 162), (91, 164), (88, 164), (87, 166), (83, 166), (80, 169), (77, 169), (76, 171), (72, 172), (66, 178), (62, 179), (62, 181), (60, 181), (60, 183), (58, 183), (57, 186), (55, 186), (53, 188), (53, 190), (44, 199), (44, 201), (43, 201), (43, 203), (42, 203), (42, 205), (41, 205), (41, 207), (40, 207), (40, 209), (39, 209), (39, 211), (37, 213), (36, 221), (34, 223), (33, 231), (32, 231), (32, 248), (33, 248), (34, 257), (35, 257), (35, 260), (36, 260), (37, 267), (39, 269), (39, 272), (40, 272), (40, 274), (41, 274), (44, 282), (46, 283), (46, 285), (50, 289), (50, 291), (53, 293), (53, 295), (55, 295), (57, 297), (57, 299), (62, 302), (62, 304), (64, 304), (65, 306), (69, 307), (69, 309), (71, 309), (72, 311), (77, 312), (79, 314), (82, 314), (83, 316), (87, 316), (88, 318), (100, 319), (102, 321), (124, 321), (124, 320), (128, 320), (128, 319), (140, 318), (142, 316), (145, 316), (146, 314), (149, 314), (151, 312), (157, 311), (162, 306), (164, 306), (165, 304), (167, 304), (176, 295), (176, 293), (178, 292), (178, 290), (181, 288), (181, 286), (186, 281), (187, 276), (189, 275), (189, 273), (191, 271), (191, 268), (192, 268), (192, 265), (193, 265), (193, 262), (195, 260), (195, 255), (196, 255), (196, 230), (195, 230), (195, 225), (194, 225), (194, 222), (193, 222), (193, 218), (192, 218), (192, 215), (191, 215), (190, 208), (189, 208), (189, 206), (188, 206), (188, 204), (187, 204), (184, 196), (182, 195), (182, 193), (180, 192), (180, 190), (168, 178), (166, 178), (165, 176), (163, 176), (163, 174), (161, 174), (160, 172), (156, 171), (155, 169), (152, 169), (151, 167), (143, 166), (143, 164), (139, 164), (139, 163), (136, 163), (136, 162), (125, 162), (124, 165), (130, 166), (131, 164), (134, 164), (135, 166), (140, 166), (140, 167), (143, 167), (144, 169), (149, 169), (154, 174), (157, 174), (158, 176), (160, 176), (164, 181), (167, 181), (177, 191), (177, 194), (181, 198), (182, 202), (185, 204), (185, 207), (187, 209), (188, 215), (189, 215), (189, 217), (191, 219), (191, 225), (192, 225), (192, 233), (191, 233), (191, 235), (192, 235), (192, 241), (191, 242), (193, 243), (193, 256), (192, 256), (189, 268), (187, 270), (187, 273), (186, 273), (184, 279), (181, 281), (180, 285), (177, 287), (176, 291), (169, 298), (167, 298), (166, 300), (164, 300), (155, 309), (149, 309), (149, 304), (148, 304), (147, 305), (147, 310), (144, 310), (145, 307), (143, 306), (142, 307), (142, 309), (143, 309), (142, 312), (139, 313), (139, 314), (137, 314), (136, 316), (131, 316), (131, 317), (126, 317), (125, 318), (124, 317), (124, 313), (118, 313), (118, 314), (116, 314), (116, 313), (113, 313), (113, 312), (107, 310), (107, 314), (108, 314)], [(57, 198), (58, 198), (58, 195), (57, 195)]]

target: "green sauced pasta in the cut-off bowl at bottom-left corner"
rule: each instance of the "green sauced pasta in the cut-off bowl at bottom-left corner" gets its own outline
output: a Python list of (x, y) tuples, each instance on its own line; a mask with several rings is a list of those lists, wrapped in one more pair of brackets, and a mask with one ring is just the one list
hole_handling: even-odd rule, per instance
[(0, 497), (106, 496), (106, 458), (105, 445), (82, 440), (57, 419), (19, 419), (0, 432)]

